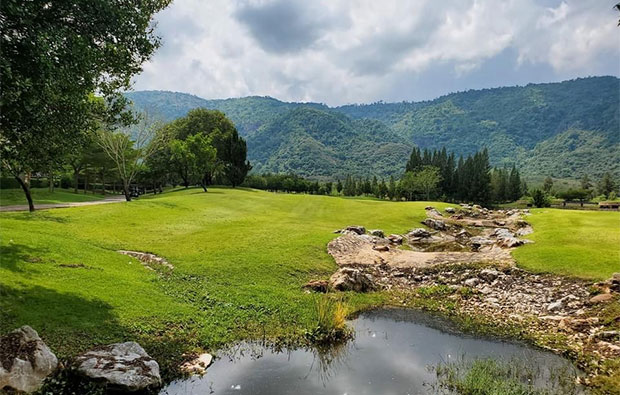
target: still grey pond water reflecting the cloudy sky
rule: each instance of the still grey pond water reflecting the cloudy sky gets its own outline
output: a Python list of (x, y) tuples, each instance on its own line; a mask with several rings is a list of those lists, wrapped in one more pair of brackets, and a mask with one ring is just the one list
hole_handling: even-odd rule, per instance
[(162, 394), (425, 394), (435, 378), (428, 367), (463, 356), (518, 358), (547, 374), (566, 365), (523, 344), (458, 334), (448, 322), (413, 311), (370, 312), (353, 325), (355, 341), (328, 354), (241, 347), (204, 377), (173, 382)]

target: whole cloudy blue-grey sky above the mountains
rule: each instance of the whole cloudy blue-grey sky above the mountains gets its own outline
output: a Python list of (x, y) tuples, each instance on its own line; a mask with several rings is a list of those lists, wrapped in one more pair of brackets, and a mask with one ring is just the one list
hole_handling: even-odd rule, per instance
[(175, 0), (134, 89), (334, 106), (618, 76), (615, 3)]

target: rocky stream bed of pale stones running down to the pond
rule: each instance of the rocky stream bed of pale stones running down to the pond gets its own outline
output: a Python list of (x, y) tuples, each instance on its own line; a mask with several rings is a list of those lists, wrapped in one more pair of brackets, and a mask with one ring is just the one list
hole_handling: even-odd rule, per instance
[[(465, 254), (499, 251), (500, 255), (491, 256), (503, 257), (503, 251), (507, 253), (527, 243), (519, 236), (532, 231), (522, 219), (529, 214), (528, 210), (494, 211), (461, 205), (449, 207), (445, 212), (450, 216), (444, 217), (434, 207), (427, 207), (427, 218), (422, 222), (427, 228), (416, 228), (405, 235), (386, 237), (381, 230), (366, 232), (363, 226), (356, 225), (337, 230), (336, 233), (344, 237), (335, 240), (340, 246), (353, 245), (355, 240), (372, 243), (373, 249), (378, 251), (390, 251), (406, 243), (419, 251), (418, 254), (437, 251), (431, 248), (438, 244), (454, 243), (466, 248), (458, 251), (470, 251)], [(329, 248), (328, 251), (334, 255)], [(620, 299), (620, 273), (608, 281), (592, 284), (529, 273), (514, 267), (512, 261), (486, 267), (454, 261), (439, 266), (402, 267), (391, 264), (389, 254), (380, 255), (376, 264), (355, 264), (356, 260), (339, 263), (341, 267), (328, 281), (315, 281), (307, 288), (320, 292), (366, 292), (443, 285), (452, 289), (443, 297), (458, 299), (458, 308), (465, 314), (483, 315), (498, 323), (519, 324), (531, 329), (531, 333), (561, 333), (575, 351), (588, 351), (603, 359), (620, 357), (620, 332), (606, 329), (596, 317), (599, 305)], [(454, 255), (459, 253), (441, 254), (440, 257)], [(593, 289), (598, 291), (593, 292)]]

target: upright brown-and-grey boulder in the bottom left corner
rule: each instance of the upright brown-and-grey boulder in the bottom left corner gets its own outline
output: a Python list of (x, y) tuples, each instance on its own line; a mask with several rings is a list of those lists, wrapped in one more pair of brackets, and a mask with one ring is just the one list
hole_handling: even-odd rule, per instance
[(34, 392), (58, 367), (56, 355), (28, 325), (0, 338), (0, 362), (0, 391)]

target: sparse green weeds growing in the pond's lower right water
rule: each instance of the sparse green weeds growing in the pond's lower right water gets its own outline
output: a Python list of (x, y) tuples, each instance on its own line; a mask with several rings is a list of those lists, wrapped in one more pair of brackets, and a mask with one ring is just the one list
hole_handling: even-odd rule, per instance
[(521, 360), (475, 359), (437, 365), (436, 387), (458, 394), (571, 395), (581, 392), (575, 372), (565, 368), (534, 368)]

